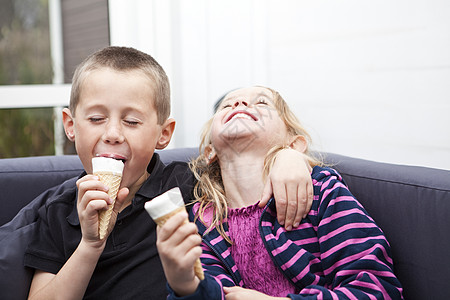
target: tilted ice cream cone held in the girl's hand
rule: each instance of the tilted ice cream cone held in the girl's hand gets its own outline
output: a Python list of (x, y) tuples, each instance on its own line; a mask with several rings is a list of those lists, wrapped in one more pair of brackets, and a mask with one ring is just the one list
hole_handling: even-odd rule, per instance
[[(183, 197), (179, 188), (173, 188), (164, 194), (153, 198), (152, 200), (145, 203), (145, 210), (148, 212), (150, 217), (159, 226), (163, 226), (166, 221), (173, 215), (186, 211), (184, 207)], [(188, 223), (189, 220), (186, 218), (184, 223)], [(197, 259), (194, 263), (194, 273), (200, 280), (205, 279), (205, 274), (203, 273), (202, 264), (200, 259)]]

